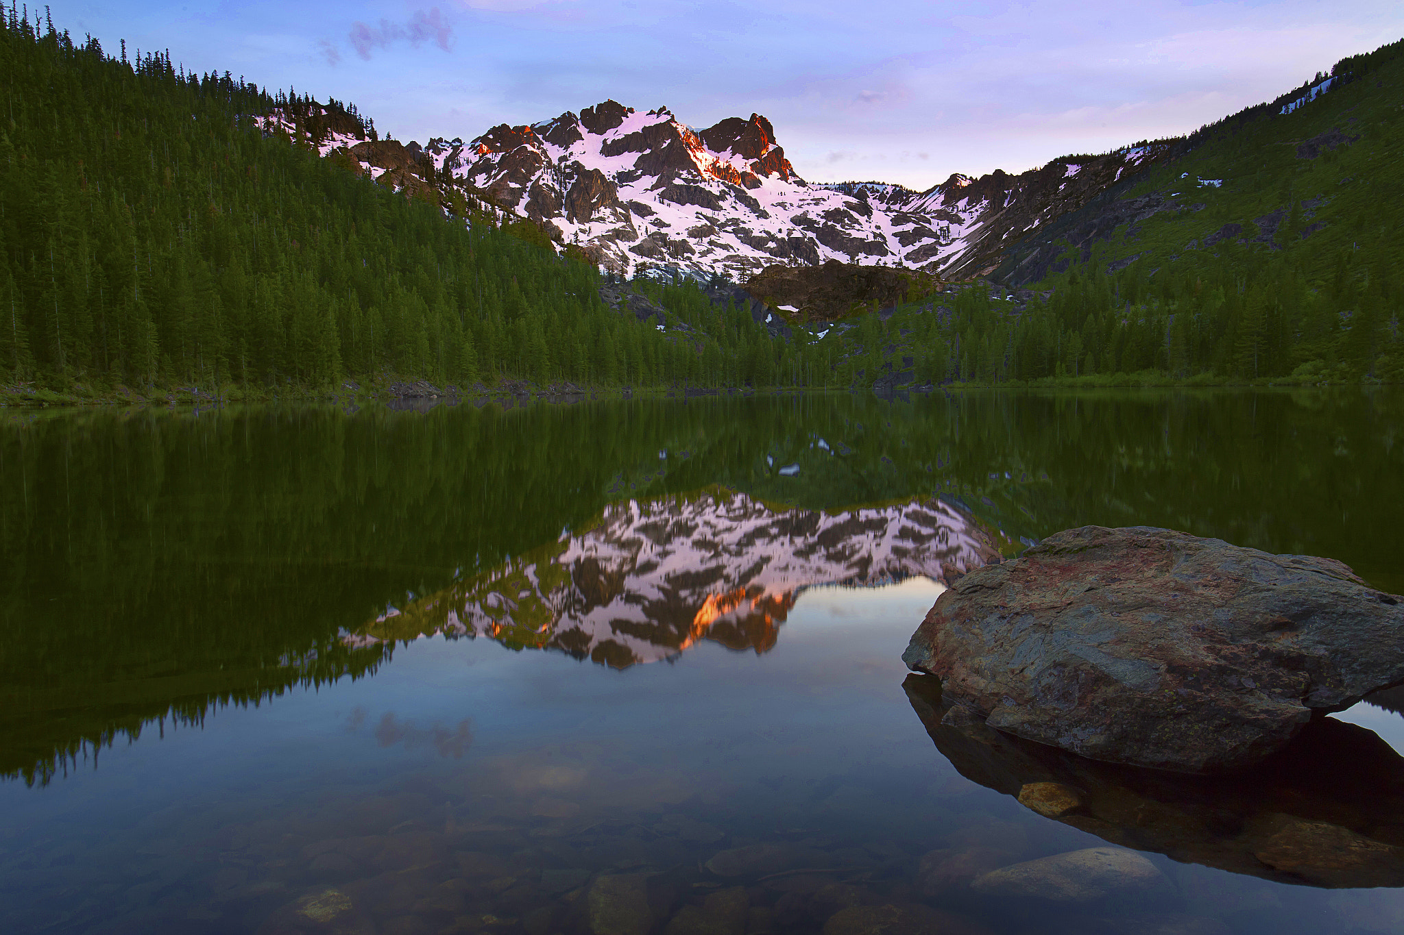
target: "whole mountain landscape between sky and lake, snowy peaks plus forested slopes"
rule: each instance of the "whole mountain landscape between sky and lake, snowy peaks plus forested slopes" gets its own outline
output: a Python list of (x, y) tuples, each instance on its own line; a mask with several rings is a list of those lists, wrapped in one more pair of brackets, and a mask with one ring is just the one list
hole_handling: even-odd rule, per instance
[(1179, 140), (911, 192), (799, 178), (758, 115), (400, 143), (6, 10), (0, 404), (1400, 380), (1401, 48)]

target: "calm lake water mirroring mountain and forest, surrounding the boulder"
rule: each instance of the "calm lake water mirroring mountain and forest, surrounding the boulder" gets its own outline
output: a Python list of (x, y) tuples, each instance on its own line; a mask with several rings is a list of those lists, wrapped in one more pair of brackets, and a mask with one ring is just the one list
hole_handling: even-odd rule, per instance
[(1053, 820), (900, 660), (1088, 523), (1404, 592), (1401, 481), (1394, 390), (7, 414), (0, 928), (1404, 931), (1398, 714)]

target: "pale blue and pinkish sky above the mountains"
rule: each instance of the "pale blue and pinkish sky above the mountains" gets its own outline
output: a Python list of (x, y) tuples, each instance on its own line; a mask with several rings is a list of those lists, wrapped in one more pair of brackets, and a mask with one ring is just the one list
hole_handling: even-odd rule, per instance
[(107, 0), (53, 18), (354, 101), (406, 140), (605, 98), (696, 126), (755, 111), (804, 178), (913, 188), (1185, 133), (1404, 36), (1397, 0)]

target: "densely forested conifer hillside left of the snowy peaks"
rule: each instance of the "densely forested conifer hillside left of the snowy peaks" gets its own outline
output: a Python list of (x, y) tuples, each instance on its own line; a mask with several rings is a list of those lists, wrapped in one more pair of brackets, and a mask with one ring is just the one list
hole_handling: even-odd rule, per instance
[(434, 199), (261, 133), (253, 116), (296, 111), (295, 93), (183, 74), (164, 53), (110, 56), (14, 10), (3, 21), (0, 383), (102, 397), (802, 370), (796, 345), (696, 289), (650, 286), (691, 322), (660, 331), (608, 308), (598, 271), (529, 224), (445, 219)]

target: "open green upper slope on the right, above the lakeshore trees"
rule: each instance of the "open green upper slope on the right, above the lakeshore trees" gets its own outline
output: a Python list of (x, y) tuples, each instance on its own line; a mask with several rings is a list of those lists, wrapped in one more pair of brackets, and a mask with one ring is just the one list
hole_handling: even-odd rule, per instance
[(1348, 266), (1394, 275), (1404, 269), (1389, 236), (1390, 206), (1404, 193), (1401, 52), (1396, 42), (1342, 59), (1330, 76), (1202, 128), (1178, 158), (1015, 245), (997, 276), (1039, 282), (1091, 261), (1094, 248), (1118, 268), (1220, 257), (1244, 272), (1289, 261), (1313, 279), (1334, 278), (1337, 252), (1348, 250)]

